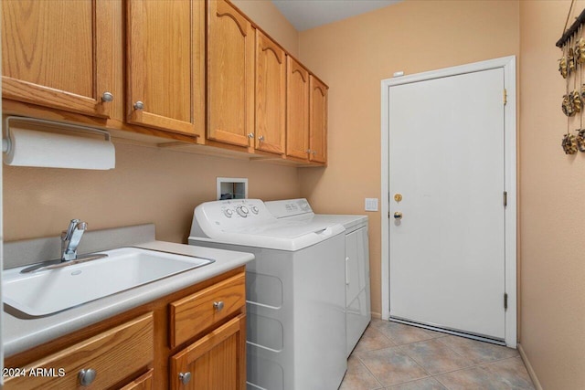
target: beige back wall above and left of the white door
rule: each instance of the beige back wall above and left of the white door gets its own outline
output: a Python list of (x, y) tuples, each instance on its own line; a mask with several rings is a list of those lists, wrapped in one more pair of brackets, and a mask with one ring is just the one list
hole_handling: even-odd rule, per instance
[[(407, 1), (301, 33), (301, 60), (330, 87), (329, 166), (300, 174), (315, 210), (364, 214), (364, 198), (380, 197), (382, 79), (517, 55), (518, 17), (515, 1)], [(379, 315), (380, 215), (367, 214)]]

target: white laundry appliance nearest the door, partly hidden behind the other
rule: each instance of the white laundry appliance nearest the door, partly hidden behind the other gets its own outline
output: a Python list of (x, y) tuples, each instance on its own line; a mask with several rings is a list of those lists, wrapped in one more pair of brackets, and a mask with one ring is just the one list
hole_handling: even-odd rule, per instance
[(349, 356), (372, 318), (367, 216), (314, 214), (311, 205), (304, 198), (264, 204), (279, 220), (304, 221), (307, 224), (340, 224), (346, 228), (346, 353)]

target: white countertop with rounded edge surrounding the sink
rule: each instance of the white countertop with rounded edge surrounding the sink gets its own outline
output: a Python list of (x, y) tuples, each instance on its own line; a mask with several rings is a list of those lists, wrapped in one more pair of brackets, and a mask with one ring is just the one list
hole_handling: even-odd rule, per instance
[[(135, 247), (163, 250), (200, 258), (213, 258), (215, 262), (132, 290), (93, 300), (79, 307), (47, 317), (21, 319), (5, 312), (2, 326), (5, 356), (26, 351), (42, 343), (47, 343), (60, 336), (103, 321), (123, 311), (128, 311), (177, 290), (185, 289), (202, 280), (212, 278), (230, 269), (238, 268), (254, 258), (250, 253), (203, 248), (165, 241), (150, 241)], [(71, 291), (71, 293), (74, 294), (75, 291)]]

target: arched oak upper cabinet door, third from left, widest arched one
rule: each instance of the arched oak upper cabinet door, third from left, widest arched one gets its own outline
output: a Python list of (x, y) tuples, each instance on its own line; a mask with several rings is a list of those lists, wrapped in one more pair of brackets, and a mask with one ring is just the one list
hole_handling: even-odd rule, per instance
[(208, 13), (207, 138), (248, 146), (254, 137), (254, 29), (224, 0), (211, 0)]

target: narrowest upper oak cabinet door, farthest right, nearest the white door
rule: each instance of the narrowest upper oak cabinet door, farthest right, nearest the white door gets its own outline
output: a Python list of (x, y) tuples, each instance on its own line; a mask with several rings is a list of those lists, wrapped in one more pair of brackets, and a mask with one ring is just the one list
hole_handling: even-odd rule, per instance
[(309, 77), (309, 160), (315, 163), (327, 162), (327, 87)]

